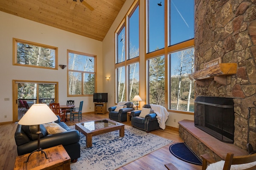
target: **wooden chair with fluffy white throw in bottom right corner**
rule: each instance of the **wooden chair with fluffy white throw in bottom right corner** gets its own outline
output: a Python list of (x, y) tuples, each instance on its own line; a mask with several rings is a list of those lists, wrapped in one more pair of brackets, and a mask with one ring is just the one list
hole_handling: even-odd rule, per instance
[[(211, 166), (214, 166), (214, 164), (218, 163), (213, 158), (211, 158), (208, 154), (201, 155), (201, 157), (202, 157), (202, 170), (207, 169), (208, 163), (212, 164)], [(250, 163), (250, 166), (248, 166), (247, 163)], [(247, 164), (247, 167), (245, 167), (244, 164)], [(239, 170), (255, 170), (256, 169), (256, 153), (251, 155), (245, 155), (245, 156), (234, 156), (233, 153), (227, 153), (225, 162), (223, 164), (223, 170), (230, 170), (231, 165), (239, 166)], [(238, 169), (238, 167), (236, 167), (235, 169)]]

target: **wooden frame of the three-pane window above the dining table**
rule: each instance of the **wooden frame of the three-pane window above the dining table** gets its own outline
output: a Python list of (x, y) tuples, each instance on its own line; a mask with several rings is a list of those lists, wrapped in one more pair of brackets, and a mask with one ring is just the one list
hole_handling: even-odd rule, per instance
[[(69, 69), (69, 53), (77, 54), (77, 55), (85, 55), (88, 57), (94, 58), (94, 72), (88, 72), (88, 71), (80, 71), (80, 70), (71, 70)], [(81, 96), (93, 96), (93, 94), (83, 94), (84, 92), (84, 74), (94, 74), (94, 92), (97, 92), (97, 55), (92, 55), (84, 52), (77, 52), (74, 50), (67, 49), (67, 96), (68, 97), (81, 97)], [(81, 94), (76, 95), (70, 95), (69, 94), (69, 72), (77, 72), (81, 74)]]

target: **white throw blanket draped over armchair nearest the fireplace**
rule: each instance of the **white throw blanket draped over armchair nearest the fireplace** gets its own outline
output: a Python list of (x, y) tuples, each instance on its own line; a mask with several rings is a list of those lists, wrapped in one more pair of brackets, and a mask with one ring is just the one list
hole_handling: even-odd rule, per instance
[(157, 114), (156, 118), (158, 119), (158, 123), (161, 129), (165, 129), (165, 122), (167, 121), (167, 118), (169, 116), (169, 112), (167, 109), (163, 106), (156, 105), (156, 104), (150, 104), (151, 109), (155, 111)]

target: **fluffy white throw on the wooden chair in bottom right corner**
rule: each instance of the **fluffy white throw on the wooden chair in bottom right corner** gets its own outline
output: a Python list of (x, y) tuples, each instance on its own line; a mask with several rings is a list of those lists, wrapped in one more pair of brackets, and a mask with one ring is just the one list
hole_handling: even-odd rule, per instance
[[(206, 170), (222, 170), (225, 161), (218, 161), (213, 164), (209, 164)], [(244, 170), (245, 168), (253, 167), (256, 165), (256, 162), (251, 162), (248, 164), (239, 164), (239, 165), (231, 165), (230, 170)]]

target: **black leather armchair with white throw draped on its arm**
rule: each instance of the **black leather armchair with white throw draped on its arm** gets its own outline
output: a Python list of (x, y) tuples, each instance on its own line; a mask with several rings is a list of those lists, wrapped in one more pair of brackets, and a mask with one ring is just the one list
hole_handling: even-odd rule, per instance
[[(150, 108), (149, 104), (143, 105), (144, 108)], [(150, 110), (150, 113), (145, 116), (145, 118), (140, 117), (141, 110), (136, 110), (131, 112), (131, 125), (141, 130), (145, 130), (147, 133), (152, 130), (160, 129), (157, 114), (154, 110)]]

